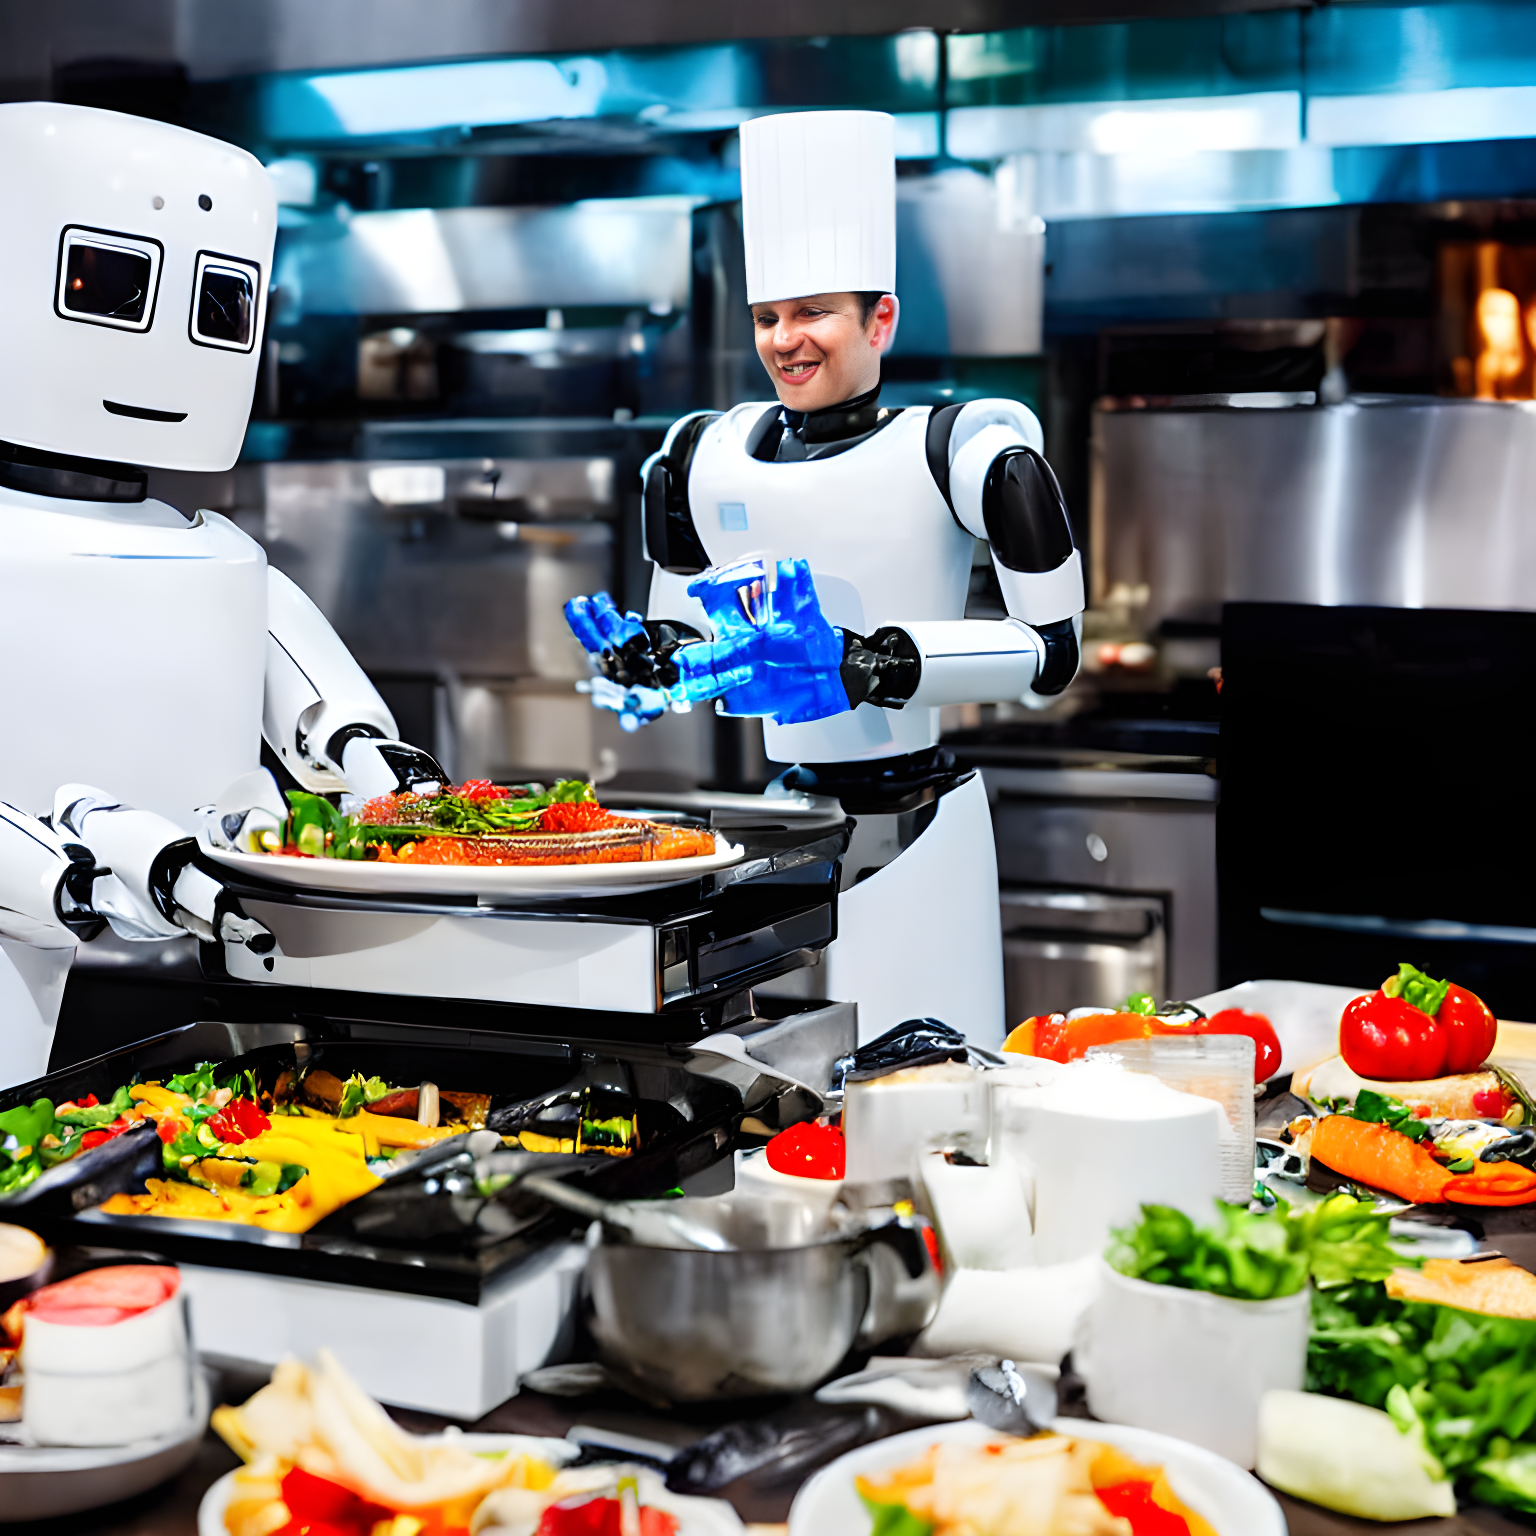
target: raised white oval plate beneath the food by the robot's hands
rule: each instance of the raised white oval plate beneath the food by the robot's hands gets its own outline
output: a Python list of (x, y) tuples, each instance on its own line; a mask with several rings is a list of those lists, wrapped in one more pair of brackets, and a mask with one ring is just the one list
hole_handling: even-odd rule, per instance
[(349, 895), (465, 895), (495, 902), (515, 895), (624, 895), (682, 885), (740, 863), (742, 849), (714, 834), (714, 852), (691, 859), (650, 859), (608, 865), (393, 865), (369, 859), (290, 859), (284, 854), (237, 854), (217, 848), (207, 834), (203, 852), (215, 863), (258, 880), (307, 891)]

